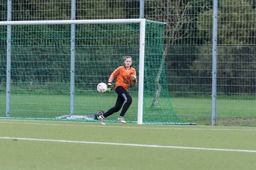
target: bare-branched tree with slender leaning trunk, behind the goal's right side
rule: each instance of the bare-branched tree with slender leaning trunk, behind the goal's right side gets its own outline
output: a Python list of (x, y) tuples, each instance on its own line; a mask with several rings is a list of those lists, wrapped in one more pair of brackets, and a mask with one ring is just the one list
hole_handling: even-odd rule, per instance
[[(145, 11), (148, 19), (154, 21), (162, 21), (166, 23), (164, 28), (164, 55), (159, 67), (159, 72), (156, 77), (156, 91), (154, 94), (154, 100), (151, 106), (156, 106), (157, 100), (161, 93), (161, 84), (159, 84), (159, 79), (164, 68), (164, 64), (173, 63), (171, 61), (170, 49), (172, 45), (181, 45), (184, 43), (183, 38), (189, 37), (192, 30), (193, 22), (196, 20), (196, 15), (191, 15), (192, 12), (199, 13), (204, 8), (205, 4), (201, 4), (202, 1), (149, 1), (146, 4), (147, 11)], [(198, 6), (198, 7), (193, 7)], [(186, 43), (186, 41), (185, 41)], [(178, 50), (178, 46), (176, 46)], [(181, 58), (179, 60), (182, 60)], [(187, 60), (187, 59), (183, 59)], [(192, 60), (192, 59), (191, 59)], [(184, 62), (179, 62), (184, 65)], [(182, 67), (166, 64), (167, 67)], [(187, 67), (187, 66), (184, 66)]]

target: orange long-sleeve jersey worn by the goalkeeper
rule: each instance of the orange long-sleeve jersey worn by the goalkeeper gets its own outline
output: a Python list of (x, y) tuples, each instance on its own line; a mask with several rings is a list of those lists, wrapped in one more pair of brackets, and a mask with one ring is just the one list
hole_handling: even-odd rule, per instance
[(120, 66), (117, 69), (115, 69), (114, 72), (112, 72), (112, 74), (110, 74), (108, 82), (112, 83), (114, 77), (117, 76), (117, 81), (115, 83), (114, 88), (117, 88), (117, 86), (122, 86), (124, 87), (124, 89), (128, 91), (131, 82), (133, 84), (137, 83), (137, 80), (135, 82), (132, 81), (132, 74), (136, 76), (136, 70), (134, 68), (131, 67), (130, 69), (126, 69), (124, 66)]

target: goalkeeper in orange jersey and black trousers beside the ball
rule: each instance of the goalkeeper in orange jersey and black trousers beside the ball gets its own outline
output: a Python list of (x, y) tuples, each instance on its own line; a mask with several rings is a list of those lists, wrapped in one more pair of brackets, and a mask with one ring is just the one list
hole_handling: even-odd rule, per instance
[(112, 74), (110, 74), (110, 78), (107, 83), (107, 92), (112, 90), (112, 81), (114, 80), (114, 77), (117, 77), (117, 81), (114, 86), (114, 89), (117, 92), (117, 101), (115, 106), (110, 108), (106, 113), (98, 111), (97, 119), (104, 122), (107, 116), (118, 112), (122, 108), (117, 120), (121, 123), (126, 123), (124, 120), (124, 114), (132, 104), (132, 97), (128, 93), (128, 88), (131, 83), (137, 84), (136, 70), (132, 67), (132, 57), (124, 57), (124, 65), (118, 67), (114, 72), (112, 72)]

